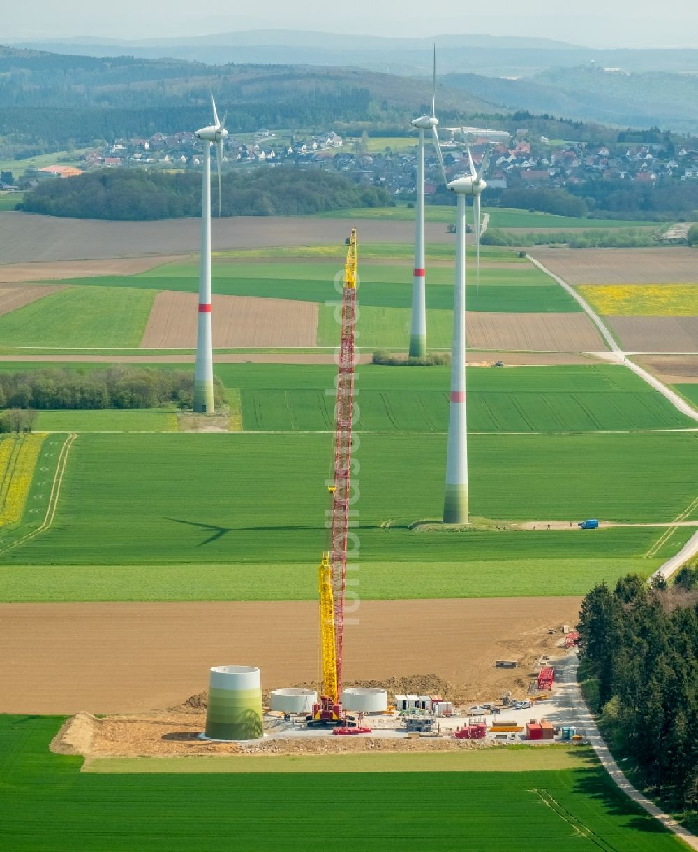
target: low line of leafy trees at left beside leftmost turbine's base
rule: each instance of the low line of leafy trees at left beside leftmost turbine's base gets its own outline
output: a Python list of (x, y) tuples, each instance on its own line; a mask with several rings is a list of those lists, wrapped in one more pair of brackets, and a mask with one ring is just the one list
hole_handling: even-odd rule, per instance
[[(215, 401), (225, 402), (225, 389), (214, 377)], [(155, 367), (112, 366), (106, 370), (66, 370), (50, 367), (24, 372), (0, 371), (0, 409), (56, 408), (191, 408), (194, 372)], [(4, 412), (14, 431), (11, 412)], [(23, 422), (23, 421), (22, 421)], [(20, 429), (16, 429), (19, 431)]]

